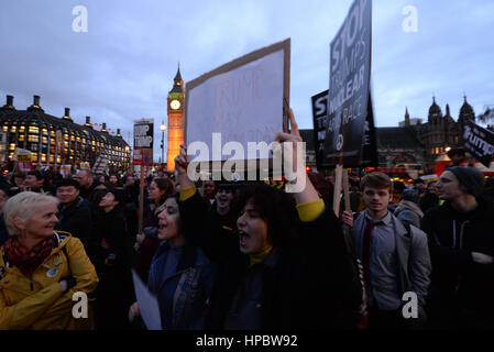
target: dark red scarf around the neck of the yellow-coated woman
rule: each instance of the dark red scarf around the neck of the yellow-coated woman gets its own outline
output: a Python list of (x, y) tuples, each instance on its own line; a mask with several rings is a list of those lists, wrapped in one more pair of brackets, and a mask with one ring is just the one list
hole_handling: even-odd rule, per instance
[(19, 242), (18, 237), (14, 235), (3, 244), (3, 251), (9, 262), (19, 267), (21, 273), (26, 277), (32, 277), (40, 264), (52, 253), (54, 244), (55, 238), (52, 237), (33, 246), (31, 251), (28, 251)]

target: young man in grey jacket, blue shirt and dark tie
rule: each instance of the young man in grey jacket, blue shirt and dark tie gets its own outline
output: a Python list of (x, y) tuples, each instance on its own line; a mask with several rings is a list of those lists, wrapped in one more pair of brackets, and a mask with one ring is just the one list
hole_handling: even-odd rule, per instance
[(402, 298), (407, 292), (418, 299), (418, 320), (425, 320), (424, 304), (430, 283), (427, 237), (414, 226), (409, 230), (387, 206), (393, 184), (383, 173), (367, 174), (361, 183), (367, 208), (355, 220), (353, 237), (363, 265), (371, 329), (404, 328)]

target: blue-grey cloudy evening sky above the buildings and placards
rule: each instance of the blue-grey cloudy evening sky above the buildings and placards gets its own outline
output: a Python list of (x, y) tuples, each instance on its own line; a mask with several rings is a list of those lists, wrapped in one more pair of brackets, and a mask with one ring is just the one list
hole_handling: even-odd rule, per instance
[[(312, 128), (310, 97), (328, 89), (329, 43), (351, 0), (15, 0), (0, 11), (0, 106), (25, 109), (41, 96), (47, 113), (70, 108), (131, 135), (135, 119), (166, 123), (177, 63), (187, 82), (260, 47), (292, 38), (290, 105)], [(73, 9), (88, 10), (75, 33)], [(418, 13), (404, 32), (403, 9)], [(426, 118), (432, 101), (458, 118), (463, 94), (475, 113), (494, 105), (494, 1), (374, 0), (372, 87), (375, 122), (397, 125), (405, 107)], [(161, 139), (156, 127), (156, 139)], [(130, 139), (129, 139), (130, 142)], [(158, 143), (155, 147), (157, 160)]]

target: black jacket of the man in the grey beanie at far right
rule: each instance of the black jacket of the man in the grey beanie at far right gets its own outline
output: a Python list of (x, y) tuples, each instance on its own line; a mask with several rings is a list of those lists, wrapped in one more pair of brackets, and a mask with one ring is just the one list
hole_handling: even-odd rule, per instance
[(472, 252), (494, 256), (494, 206), (477, 199), (468, 213), (448, 202), (422, 220), (432, 262), (431, 305), (468, 309), (494, 318), (494, 264), (473, 262)]

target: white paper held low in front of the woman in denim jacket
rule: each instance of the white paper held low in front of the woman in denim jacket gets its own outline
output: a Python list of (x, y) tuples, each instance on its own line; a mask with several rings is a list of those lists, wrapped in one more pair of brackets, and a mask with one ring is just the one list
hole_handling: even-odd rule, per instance
[(135, 271), (132, 271), (132, 278), (134, 280), (134, 290), (135, 297), (138, 298), (139, 310), (147, 330), (162, 330), (162, 319), (160, 317), (160, 306), (156, 296), (150, 293)]

